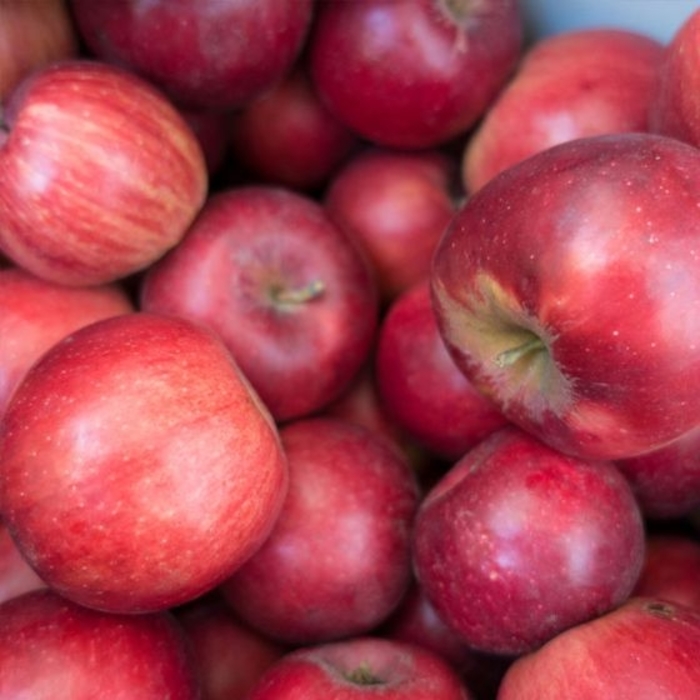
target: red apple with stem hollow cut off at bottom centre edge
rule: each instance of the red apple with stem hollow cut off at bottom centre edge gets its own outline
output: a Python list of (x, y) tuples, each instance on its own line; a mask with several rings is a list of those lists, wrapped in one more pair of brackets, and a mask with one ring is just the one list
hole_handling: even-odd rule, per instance
[(363, 636), (294, 649), (247, 700), (472, 700), (452, 667), (420, 646)]

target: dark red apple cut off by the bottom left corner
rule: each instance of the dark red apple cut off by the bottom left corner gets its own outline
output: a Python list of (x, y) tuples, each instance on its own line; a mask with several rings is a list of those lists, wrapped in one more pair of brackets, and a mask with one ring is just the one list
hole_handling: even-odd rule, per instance
[(199, 700), (188, 640), (169, 612), (104, 613), (49, 589), (0, 605), (0, 698), (92, 700), (96, 692)]

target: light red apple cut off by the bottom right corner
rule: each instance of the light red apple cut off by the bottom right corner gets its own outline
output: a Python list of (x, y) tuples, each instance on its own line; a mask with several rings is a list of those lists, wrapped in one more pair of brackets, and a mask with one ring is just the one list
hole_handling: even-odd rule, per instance
[(506, 672), (498, 700), (694, 700), (700, 614), (655, 598), (633, 598), (555, 637)]

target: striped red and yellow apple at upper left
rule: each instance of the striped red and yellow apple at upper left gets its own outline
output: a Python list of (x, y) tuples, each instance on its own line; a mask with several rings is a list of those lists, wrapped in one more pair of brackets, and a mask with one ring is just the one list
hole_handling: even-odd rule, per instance
[(196, 136), (126, 71), (53, 63), (17, 87), (3, 116), (0, 248), (39, 277), (95, 285), (137, 272), (180, 241), (204, 202)]

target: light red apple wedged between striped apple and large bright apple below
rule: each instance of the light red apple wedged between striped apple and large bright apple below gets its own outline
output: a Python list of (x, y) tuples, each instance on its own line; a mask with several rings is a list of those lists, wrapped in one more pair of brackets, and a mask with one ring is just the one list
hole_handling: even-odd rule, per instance
[(15, 266), (0, 268), (0, 416), (31, 365), (69, 333), (134, 311), (117, 284), (67, 287)]

